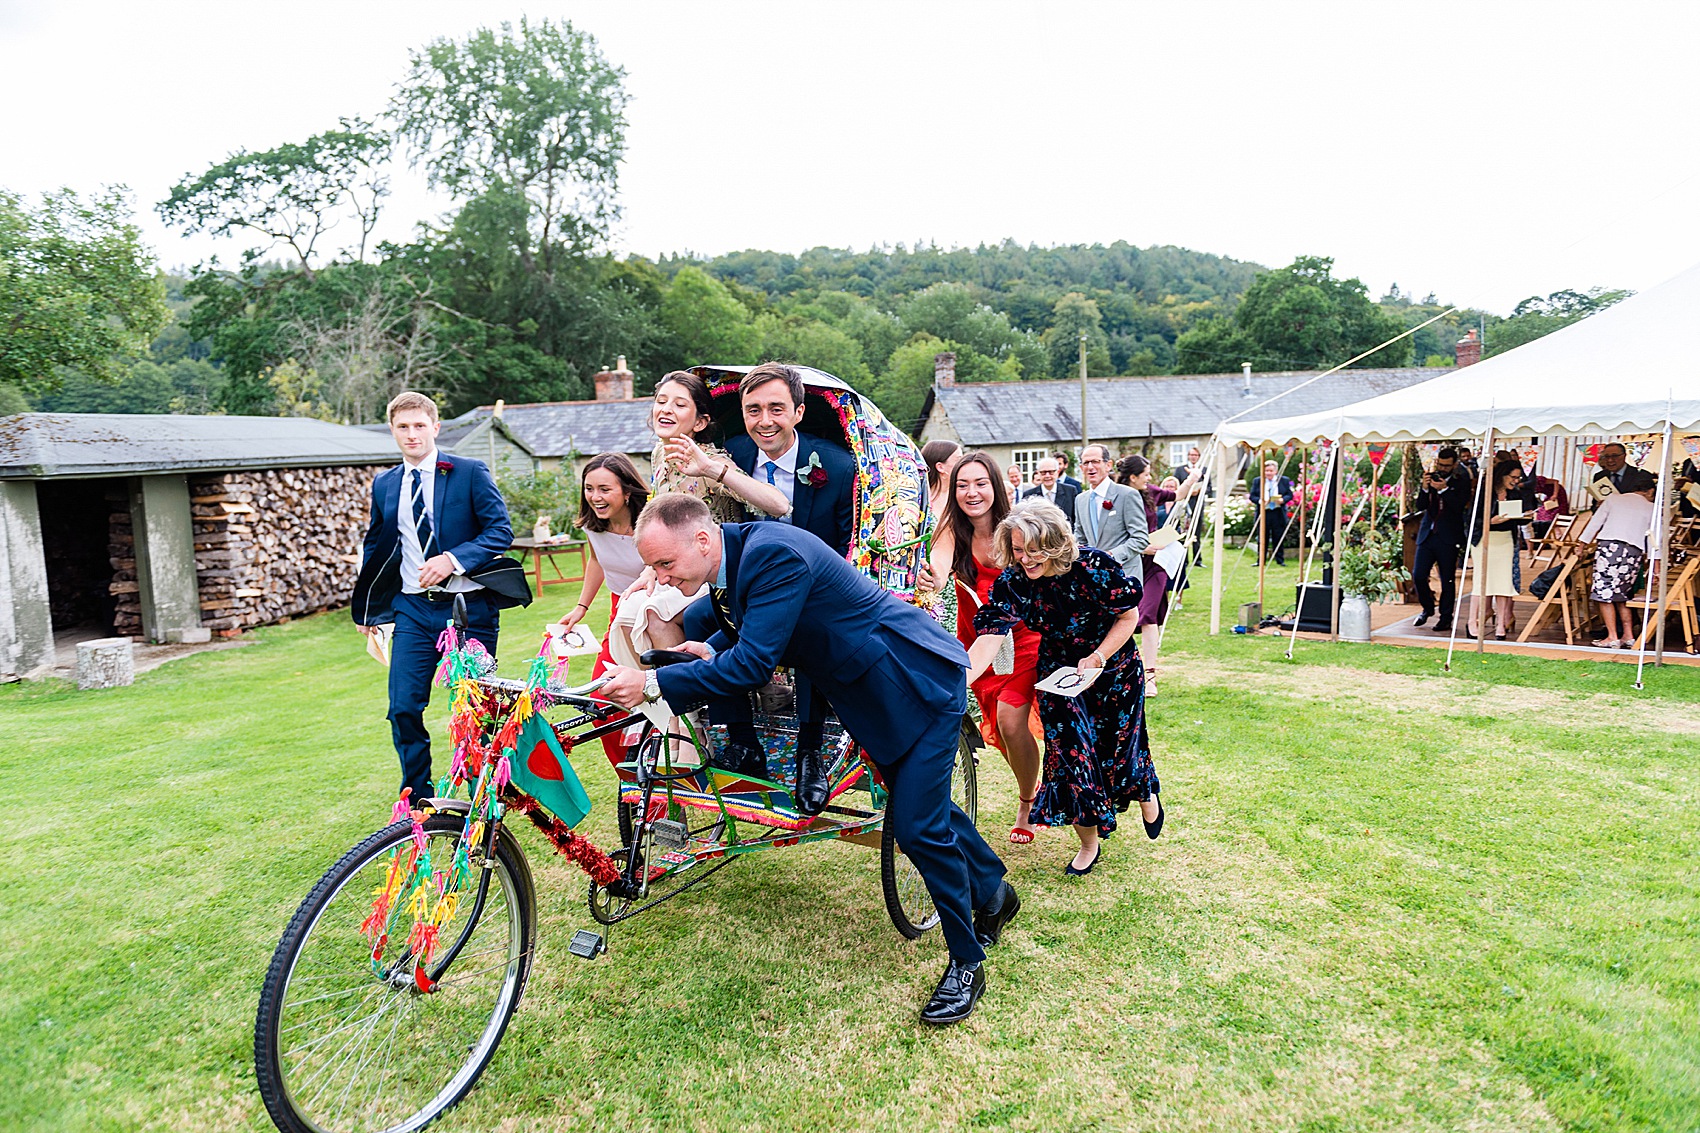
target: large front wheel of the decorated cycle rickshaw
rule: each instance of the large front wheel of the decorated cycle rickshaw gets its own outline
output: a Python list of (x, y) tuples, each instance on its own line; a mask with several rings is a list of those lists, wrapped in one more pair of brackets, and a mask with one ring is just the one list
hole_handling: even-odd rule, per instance
[[(423, 823), (434, 863), (454, 861), (461, 827), (457, 815)], [(301, 902), (272, 954), (253, 1065), (284, 1133), (405, 1133), (428, 1124), (473, 1089), (518, 1009), (534, 956), (536, 891), (505, 827), (483, 905), (481, 869), (445, 890), (457, 903), (440, 927), (437, 958), (462, 941), (449, 968), (416, 975), (403, 939), (389, 942), (374, 970), (360, 925), (391, 863), (411, 845), (413, 828), (403, 822), (348, 851)], [(408, 917), (400, 924), (411, 927)]]

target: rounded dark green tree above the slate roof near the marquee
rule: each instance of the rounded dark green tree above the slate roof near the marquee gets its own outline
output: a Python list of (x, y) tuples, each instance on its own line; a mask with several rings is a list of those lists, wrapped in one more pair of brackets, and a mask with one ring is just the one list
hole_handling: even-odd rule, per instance
[[(1221, 327), (1195, 327), (1175, 344), (1176, 369), (1224, 373), (1229, 367), (1221, 359), (1236, 345), (1243, 347), (1241, 361), (1256, 369), (1326, 369), (1404, 330), (1399, 318), (1370, 303), (1360, 281), (1334, 279), (1333, 267), (1328, 257), (1300, 255), (1280, 270), (1263, 272), (1234, 310), (1239, 335)], [(1409, 361), (1411, 342), (1401, 339), (1358, 366), (1404, 366)]]

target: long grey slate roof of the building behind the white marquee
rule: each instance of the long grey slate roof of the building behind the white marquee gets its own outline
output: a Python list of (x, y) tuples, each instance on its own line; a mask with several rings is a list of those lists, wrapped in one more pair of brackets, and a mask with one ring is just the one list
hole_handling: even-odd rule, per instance
[[(1292, 390), (1319, 371), (1090, 378), (1086, 415), (1093, 437), (1207, 437), (1217, 424)], [(1256, 410), (1258, 417), (1316, 413), (1428, 381), (1442, 371), (1343, 369)], [(1080, 381), (974, 381), (926, 395), (921, 420), (940, 405), (967, 447), (1080, 441)]]

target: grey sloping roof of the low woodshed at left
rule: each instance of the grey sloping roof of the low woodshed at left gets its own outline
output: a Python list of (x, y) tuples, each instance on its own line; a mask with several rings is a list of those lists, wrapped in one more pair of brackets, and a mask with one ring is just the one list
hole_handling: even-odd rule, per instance
[(401, 459), (389, 432), (309, 417), (17, 413), (0, 418), (0, 480), (325, 468)]

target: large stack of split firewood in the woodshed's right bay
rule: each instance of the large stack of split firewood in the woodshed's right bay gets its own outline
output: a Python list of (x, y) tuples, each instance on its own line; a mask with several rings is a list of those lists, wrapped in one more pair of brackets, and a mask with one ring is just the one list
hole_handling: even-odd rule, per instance
[(230, 636), (342, 606), (360, 568), (371, 466), (189, 480), (201, 624)]

